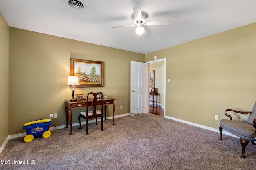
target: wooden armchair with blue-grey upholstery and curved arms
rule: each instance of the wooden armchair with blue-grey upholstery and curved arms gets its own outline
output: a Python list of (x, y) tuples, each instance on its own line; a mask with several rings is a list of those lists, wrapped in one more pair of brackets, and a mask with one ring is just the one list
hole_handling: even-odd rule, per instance
[[(232, 117), (227, 114), (227, 111), (250, 115), (246, 122), (232, 121)], [(233, 135), (238, 136), (242, 145), (242, 155), (240, 157), (245, 158), (244, 152), (247, 144), (251, 141), (252, 144), (255, 145), (254, 141), (256, 140), (256, 102), (252, 111), (237, 111), (233, 109), (226, 109), (225, 115), (229, 117), (229, 120), (220, 120), (220, 138), (218, 138), (218, 140), (222, 140), (222, 129), (225, 129)]]

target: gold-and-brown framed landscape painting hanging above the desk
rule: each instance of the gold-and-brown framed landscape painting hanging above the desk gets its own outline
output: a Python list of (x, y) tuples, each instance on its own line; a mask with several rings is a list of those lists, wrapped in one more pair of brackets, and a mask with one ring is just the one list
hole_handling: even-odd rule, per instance
[(103, 87), (103, 62), (70, 59), (70, 76), (78, 76), (78, 87)]

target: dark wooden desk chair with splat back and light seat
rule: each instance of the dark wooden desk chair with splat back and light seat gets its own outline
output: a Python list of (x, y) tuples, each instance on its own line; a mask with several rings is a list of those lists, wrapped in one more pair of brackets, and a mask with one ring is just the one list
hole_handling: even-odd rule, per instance
[[(101, 94), (100, 98), (97, 98), (97, 95)], [(92, 100), (92, 106), (88, 106), (88, 96), (93, 96)], [(89, 99), (90, 100), (90, 99)], [(96, 107), (100, 106), (101, 110), (97, 110)], [(88, 111), (88, 107), (93, 107), (93, 110)], [(102, 92), (97, 92), (93, 93), (90, 92), (86, 96), (86, 110), (85, 111), (80, 111), (79, 116), (78, 116), (78, 121), (80, 127), (78, 129), (81, 129), (81, 117), (85, 119), (86, 121), (86, 135), (89, 135), (88, 131), (88, 119), (96, 118), (96, 125), (97, 124), (97, 118), (100, 117), (100, 123), (101, 123), (101, 131), (103, 131), (103, 94)]]

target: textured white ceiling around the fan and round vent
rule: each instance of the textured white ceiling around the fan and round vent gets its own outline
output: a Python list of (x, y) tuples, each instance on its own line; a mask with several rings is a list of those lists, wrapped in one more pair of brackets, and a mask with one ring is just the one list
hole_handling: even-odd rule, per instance
[[(0, 12), (10, 27), (65, 37), (147, 54), (256, 22), (256, 0), (0, 0)], [(136, 35), (133, 7), (147, 21), (170, 20), (170, 25), (146, 26)]]

